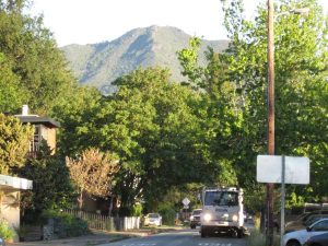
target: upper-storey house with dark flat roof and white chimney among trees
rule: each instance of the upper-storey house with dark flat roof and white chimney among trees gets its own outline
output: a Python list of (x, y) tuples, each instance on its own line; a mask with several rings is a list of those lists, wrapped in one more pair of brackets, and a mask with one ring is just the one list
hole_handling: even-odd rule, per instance
[(49, 117), (40, 117), (38, 115), (30, 115), (28, 106), (23, 105), (22, 115), (15, 115), (21, 122), (34, 126), (34, 138), (30, 142), (30, 156), (35, 156), (39, 150), (40, 143), (45, 140), (52, 151), (56, 152), (56, 129), (60, 124)]

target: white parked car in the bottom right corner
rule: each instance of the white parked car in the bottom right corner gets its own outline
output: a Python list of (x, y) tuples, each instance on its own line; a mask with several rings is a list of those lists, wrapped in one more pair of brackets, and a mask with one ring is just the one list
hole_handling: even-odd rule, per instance
[(328, 233), (328, 218), (318, 219), (306, 229), (290, 232), (283, 236), (284, 246), (301, 246), (309, 237)]

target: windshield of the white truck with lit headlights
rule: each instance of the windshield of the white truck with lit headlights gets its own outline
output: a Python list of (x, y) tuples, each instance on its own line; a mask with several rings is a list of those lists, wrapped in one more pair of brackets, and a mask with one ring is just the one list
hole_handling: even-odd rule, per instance
[(206, 191), (204, 206), (238, 206), (238, 192)]

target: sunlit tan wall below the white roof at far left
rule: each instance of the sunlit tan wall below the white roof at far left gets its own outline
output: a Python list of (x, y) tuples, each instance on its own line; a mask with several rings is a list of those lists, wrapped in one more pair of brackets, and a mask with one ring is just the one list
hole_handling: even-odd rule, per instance
[(0, 202), (0, 216), (12, 227), (20, 226), (20, 192), (3, 191)]

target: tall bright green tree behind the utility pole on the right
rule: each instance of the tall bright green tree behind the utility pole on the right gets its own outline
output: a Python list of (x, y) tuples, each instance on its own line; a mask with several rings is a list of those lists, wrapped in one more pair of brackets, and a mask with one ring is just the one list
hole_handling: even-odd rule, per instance
[[(319, 174), (327, 168), (327, 16), (314, 0), (276, 1), (276, 12), (309, 7), (308, 16), (277, 16), (276, 34), (276, 154), (305, 155), (312, 160), (311, 187), (297, 190), (307, 199), (325, 192)], [(242, 90), (244, 151), (242, 184), (255, 183), (255, 156), (266, 153), (267, 119), (267, 11), (246, 21), (242, 1), (225, 7), (225, 26), (231, 37), (221, 57), (229, 80)], [(242, 160), (241, 160), (242, 161)], [(318, 175), (317, 175), (318, 174)], [(320, 185), (318, 185), (320, 184)], [(251, 186), (250, 186), (251, 187)], [(292, 189), (295, 189), (292, 187)], [(297, 189), (297, 188), (296, 188)]]

